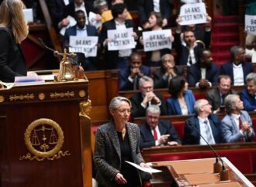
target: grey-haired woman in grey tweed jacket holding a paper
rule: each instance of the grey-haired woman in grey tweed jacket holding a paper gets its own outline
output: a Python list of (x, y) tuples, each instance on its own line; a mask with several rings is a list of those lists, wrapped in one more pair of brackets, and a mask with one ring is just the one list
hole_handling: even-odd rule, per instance
[(137, 169), (125, 161), (148, 167), (140, 155), (140, 130), (128, 122), (130, 110), (130, 100), (114, 97), (109, 104), (112, 121), (96, 133), (94, 162), (100, 187), (140, 186)]

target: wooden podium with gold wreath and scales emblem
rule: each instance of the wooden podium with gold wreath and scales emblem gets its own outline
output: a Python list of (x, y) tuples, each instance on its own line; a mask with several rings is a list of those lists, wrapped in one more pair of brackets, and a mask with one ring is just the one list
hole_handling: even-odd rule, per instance
[(88, 80), (0, 90), (0, 186), (91, 187)]

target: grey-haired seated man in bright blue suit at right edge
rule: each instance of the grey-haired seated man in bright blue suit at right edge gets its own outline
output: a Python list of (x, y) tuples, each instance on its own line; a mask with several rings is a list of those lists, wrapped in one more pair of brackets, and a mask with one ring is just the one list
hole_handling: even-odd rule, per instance
[(256, 73), (249, 73), (246, 76), (246, 88), (240, 93), (244, 102), (244, 110), (256, 111)]

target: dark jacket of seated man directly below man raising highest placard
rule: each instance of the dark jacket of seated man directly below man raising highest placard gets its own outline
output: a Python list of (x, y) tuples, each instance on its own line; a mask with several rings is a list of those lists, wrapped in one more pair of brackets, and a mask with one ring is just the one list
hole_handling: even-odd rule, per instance
[[(216, 85), (219, 76), (219, 67), (212, 63), (212, 66), (206, 68), (206, 80), (209, 80), (213, 86)], [(192, 64), (188, 69), (189, 87), (195, 87), (195, 84), (202, 79), (199, 63)]]

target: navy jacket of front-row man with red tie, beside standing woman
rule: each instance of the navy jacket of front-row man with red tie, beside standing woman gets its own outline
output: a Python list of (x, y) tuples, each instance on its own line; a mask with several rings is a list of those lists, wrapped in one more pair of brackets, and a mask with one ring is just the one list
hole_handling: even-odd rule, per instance
[[(159, 121), (157, 124), (160, 134), (170, 134), (168, 141), (176, 141), (178, 144), (181, 144), (181, 141), (178, 138), (178, 134), (169, 121)], [(140, 124), (140, 148), (150, 148), (155, 146), (154, 136), (151, 133), (150, 125), (146, 123)]]

